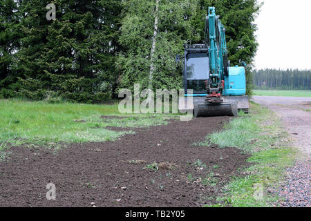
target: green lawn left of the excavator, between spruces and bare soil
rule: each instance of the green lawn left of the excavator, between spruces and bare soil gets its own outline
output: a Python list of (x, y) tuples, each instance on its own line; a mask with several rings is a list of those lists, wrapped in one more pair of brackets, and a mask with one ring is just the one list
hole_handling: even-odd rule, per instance
[[(172, 115), (120, 115), (116, 104), (50, 104), (19, 99), (0, 100), (0, 145), (41, 144), (61, 142), (104, 142), (115, 140), (125, 132), (106, 126), (145, 127), (167, 124)], [(124, 118), (103, 119), (102, 115)]]

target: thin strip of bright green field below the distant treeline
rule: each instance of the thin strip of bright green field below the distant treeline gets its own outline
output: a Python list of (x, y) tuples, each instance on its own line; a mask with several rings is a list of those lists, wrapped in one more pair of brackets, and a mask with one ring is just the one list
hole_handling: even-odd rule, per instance
[(311, 90), (254, 90), (254, 95), (283, 96), (283, 97), (311, 97)]

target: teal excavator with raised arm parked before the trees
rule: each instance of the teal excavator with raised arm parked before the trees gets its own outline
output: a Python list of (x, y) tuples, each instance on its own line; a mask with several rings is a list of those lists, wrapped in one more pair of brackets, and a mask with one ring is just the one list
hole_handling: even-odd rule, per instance
[[(237, 116), (238, 111), (248, 113), (245, 68), (230, 66), (227, 61), (225, 27), (214, 7), (209, 8), (206, 17), (205, 44), (185, 45), (182, 57), (185, 89), (182, 99), (185, 102), (179, 102), (180, 111), (193, 110), (194, 117)], [(193, 104), (188, 104), (189, 97)]]

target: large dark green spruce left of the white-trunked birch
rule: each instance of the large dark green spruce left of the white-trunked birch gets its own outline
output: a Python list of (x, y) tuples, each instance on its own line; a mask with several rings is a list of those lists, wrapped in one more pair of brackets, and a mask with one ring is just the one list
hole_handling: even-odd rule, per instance
[(55, 1), (56, 20), (46, 19), (48, 1), (25, 1), (22, 95), (96, 102), (115, 88), (121, 1)]

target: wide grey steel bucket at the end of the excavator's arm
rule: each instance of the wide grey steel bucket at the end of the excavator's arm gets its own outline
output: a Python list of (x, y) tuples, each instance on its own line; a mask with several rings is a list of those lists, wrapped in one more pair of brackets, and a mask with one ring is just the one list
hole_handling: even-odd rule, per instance
[(198, 104), (194, 106), (194, 117), (238, 116), (238, 103)]

